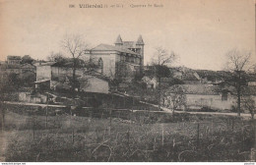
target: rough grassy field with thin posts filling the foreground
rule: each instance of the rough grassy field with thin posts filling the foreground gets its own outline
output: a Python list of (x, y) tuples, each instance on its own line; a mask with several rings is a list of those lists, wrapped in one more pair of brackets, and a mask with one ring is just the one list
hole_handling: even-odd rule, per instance
[(4, 157), (19, 162), (249, 161), (255, 145), (255, 123), (241, 118), (150, 113), (91, 116), (63, 114), (46, 119), (7, 111)]

